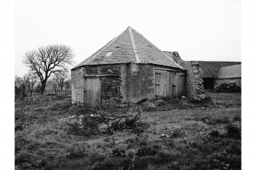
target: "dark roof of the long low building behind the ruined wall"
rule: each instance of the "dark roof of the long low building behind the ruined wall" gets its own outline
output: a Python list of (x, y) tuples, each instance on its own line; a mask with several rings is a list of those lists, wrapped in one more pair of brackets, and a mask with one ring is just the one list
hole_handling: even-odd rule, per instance
[(219, 70), (225, 66), (241, 64), (241, 62), (221, 62), (221, 61), (198, 61), (199, 69), (203, 72), (203, 78), (217, 78)]

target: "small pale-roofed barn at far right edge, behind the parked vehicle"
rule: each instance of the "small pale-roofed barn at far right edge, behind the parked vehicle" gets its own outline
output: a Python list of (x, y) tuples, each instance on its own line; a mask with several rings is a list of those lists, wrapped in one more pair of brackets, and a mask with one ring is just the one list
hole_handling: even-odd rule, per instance
[(241, 88), (241, 64), (234, 66), (225, 66), (219, 70), (218, 78), (215, 79), (215, 85), (235, 83)]

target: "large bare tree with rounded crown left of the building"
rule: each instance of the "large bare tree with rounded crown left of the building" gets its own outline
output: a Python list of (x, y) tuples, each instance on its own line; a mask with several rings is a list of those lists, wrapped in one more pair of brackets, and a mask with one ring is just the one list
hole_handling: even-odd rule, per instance
[(45, 85), (50, 75), (60, 70), (67, 70), (73, 64), (73, 52), (65, 45), (49, 45), (25, 54), (23, 63), (37, 74), (41, 81), (41, 94), (44, 94)]

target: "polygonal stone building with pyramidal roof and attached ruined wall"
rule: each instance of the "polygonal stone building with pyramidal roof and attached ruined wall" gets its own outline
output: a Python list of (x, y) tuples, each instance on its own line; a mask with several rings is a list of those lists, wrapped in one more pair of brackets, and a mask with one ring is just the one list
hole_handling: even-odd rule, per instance
[(73, 104), (204, 97), (198, 63), (162, 52), (131, 27), (71, 69), (71, 82)]

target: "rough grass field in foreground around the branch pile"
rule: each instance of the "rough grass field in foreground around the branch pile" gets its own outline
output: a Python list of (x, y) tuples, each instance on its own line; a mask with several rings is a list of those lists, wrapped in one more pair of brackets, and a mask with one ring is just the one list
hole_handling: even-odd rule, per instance
[(17, 169), (241, 169), (241, 93), (212, 100), (160, 101), (141, 114), (144, 128), (77, 136), (60, 127), (71, 98), (15, 100)]

